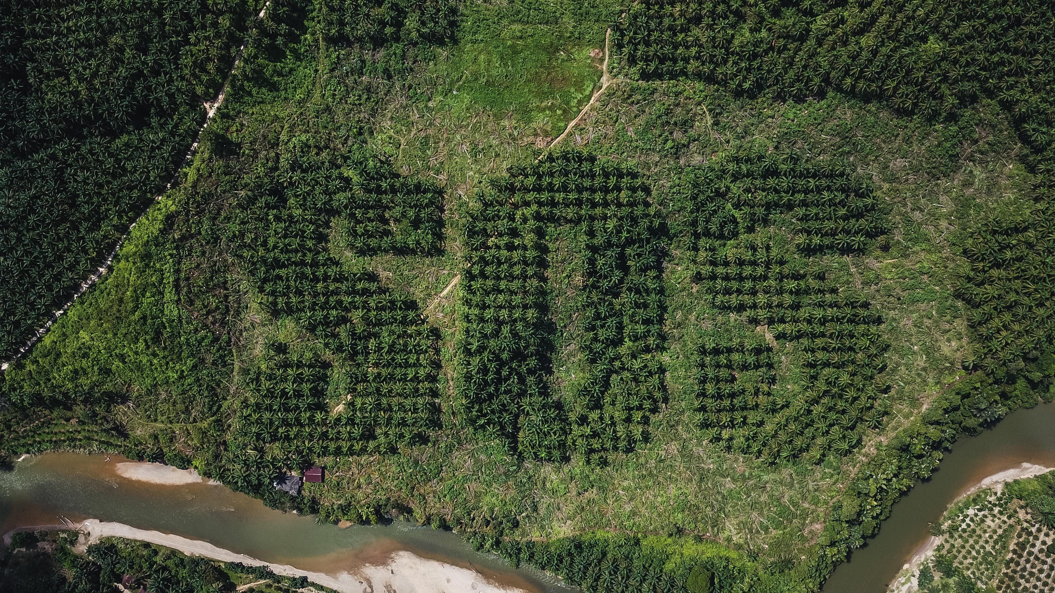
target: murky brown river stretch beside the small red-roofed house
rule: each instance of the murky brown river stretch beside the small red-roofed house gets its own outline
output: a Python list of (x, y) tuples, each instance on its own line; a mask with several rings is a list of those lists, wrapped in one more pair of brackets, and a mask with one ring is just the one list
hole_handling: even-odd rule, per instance
[(54, 453), (17, 462), (14, 472), (0, 472), (0, 534), (22, 525), (57, 524), (60, 516), (73, 521), (96, 518), (331, 575), (407, 550), (533, 593), (570, 590), (543, 573), (513, 570), (498, 556), (476, 553), (450, 532), (406, 521), (347, 529), (316, 524), (313, 517), (268, 509), (219, 484), (131, 480), (115, 470), (124, 459), (106, 459)]

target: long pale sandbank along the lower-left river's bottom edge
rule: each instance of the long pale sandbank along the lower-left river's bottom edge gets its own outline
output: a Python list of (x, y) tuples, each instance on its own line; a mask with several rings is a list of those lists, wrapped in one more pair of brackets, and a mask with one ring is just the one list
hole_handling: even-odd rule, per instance
[(521, 589), (497, 585), (479, 573), (455, 567), (446, 562), (422, 558), (406, 551), (390, 554), (384, 563), (364, 565), (350, 572), (335, 575), (310, 572), (288, 565), (264, 562), (245, 554), (236, 554), (217, 548), (207, 541), (188, 539), (156, 531), (147, 531), (123, 523), (88, 519), (79, 529), (88, 533), (89, 542), (103, 537), (137, 539), (158, 546), (179, 550), (185, 554), (204, 556), (225, 562), (266, 566), (275, 574), (306, 576), (309, 580), (324, 585), (341, 593), (367, 593), (386, 591), (392, 593), (454, 593), (473, 591), (475, 593), (523, 593)]

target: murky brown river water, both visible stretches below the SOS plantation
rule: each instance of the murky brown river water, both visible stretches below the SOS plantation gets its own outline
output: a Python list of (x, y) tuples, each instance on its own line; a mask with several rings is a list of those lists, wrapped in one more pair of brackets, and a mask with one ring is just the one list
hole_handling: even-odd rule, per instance
[[(474, 552), (457, 534), (396, 521), (339, 529), (311, 517), (281, 513), (205, 481), (179, 485), (124, 478), (118, 462), (101, 455), (47, 454), (0, 473), (0, 533), (21, 525), (54, 524), (64, 516), (96, 518), (208, 541), (239, 554), (306, 571), (350, 572), (380, 563), (396, 551), (477, 570), (501, 585), (531, 592), (570, 591), (531, 569), (513, 570), (501, 558)], [(823, 593), (881, 593), (928, 537), (957, 496), (982, 478), (1023, 462), (1055, 467), (1055, 404), (1015, 412), (977, 437), (960, 439), (934, 476), (894, 505), (879, 535), (853, 552)]]

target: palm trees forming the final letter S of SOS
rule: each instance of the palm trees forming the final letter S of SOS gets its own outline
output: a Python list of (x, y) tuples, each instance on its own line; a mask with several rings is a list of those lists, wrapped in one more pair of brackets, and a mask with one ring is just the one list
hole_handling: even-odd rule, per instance
[[(884, 388), (876, 383), (886, 345), (881, 317), (859, 294), (827, 278), (817, 249), (802, 242), (774, 241), (801, 229), (821, 229), (826, 240), (853, 236), (866, 227), (867, 238), (886, 227), (868, 185), (831, 164), (823, 167), (797, 155), (733, 154), (714, 159), (699, 174), (686, 176), (680, 190), (690, 232), (695, 236), (694, 280), (701, 302), (720, 320), (736, 315), (732, 326), (718, 325), (702, 338), (696, 351), (696, 405), (704, 433), (730, 451), (770, 462), (802, 458), (818, 462), (828, 453), (845, 455), (861, 438), (863, 426), (878, 426), (875, 412)], [(784, 175), (788, 180), (776, 181)], [(807, 175), (819, 177), (810, 183)], [(728, 188), (776, 188), (755, 204), (748, 192)], [(817, 188), (816, 193), (780, 191)], [(726, 188), (720, 190), (716, 188)], [(822, 189), (823, 188), (823, 189)], [(733, 204), (751, 205), (748, 216), (732, 212), (731, 225), (715, 225)], [(802, 216), (776, 227), (774, 215)], [(745, 226), (741, 221), (751, 224)], [(848, 231), (848, 232), (847, 232)], [(800, 235), (801, 236), (801, 235)], [(864, 244), (842, 250), (859, 251)], [(786, 389), (776, 388), (780, 356), (761, 334), (747, 327), (766, 326), (774, 344), (793, 342), (799, 365)]]

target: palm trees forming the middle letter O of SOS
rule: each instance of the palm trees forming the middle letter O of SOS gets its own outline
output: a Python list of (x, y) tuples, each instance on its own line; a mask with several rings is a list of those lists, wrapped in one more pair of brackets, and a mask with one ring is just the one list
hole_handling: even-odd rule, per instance
[[(626, 166), (561, 152), (511, 167), (477, 203), (465, 228), (457, 339), (456, 395), (469, 425), (538, 459), (636, 448), (664, 397), (665, 229), (647, 186)], [(575, 306), (590, 368), (561, 400), (550, 390), (544, 237), (554, 225), (579, 231)]]

